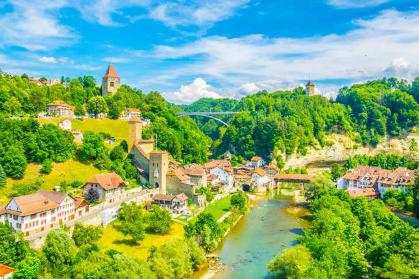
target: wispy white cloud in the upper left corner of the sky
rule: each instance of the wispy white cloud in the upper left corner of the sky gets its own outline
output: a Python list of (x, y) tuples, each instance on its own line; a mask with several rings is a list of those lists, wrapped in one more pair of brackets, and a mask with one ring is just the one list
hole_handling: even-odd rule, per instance
[(10, 0), (12, 12), (0, 15), (0, 47), (13, 45), (31, 51), (68, 45), (77, 37), (51, 12), (64, 8), (64, 0)]

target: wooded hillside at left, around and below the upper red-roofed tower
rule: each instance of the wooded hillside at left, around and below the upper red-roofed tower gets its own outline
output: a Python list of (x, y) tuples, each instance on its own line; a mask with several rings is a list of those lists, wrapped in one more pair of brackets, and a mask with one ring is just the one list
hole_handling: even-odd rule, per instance
[(38, 86), (29, 83), (25, 76), (0, 75), (0, 115), (8, 116), (9, 109), (14, 116), (36, 115), (54, 100), (75, 106), (76, 114), (83, 115), (83, 107), (88, 107), (90, 113), (107, 112), (111, 118), (118, 118), (127, 107), (137, 107), (142, 117), (151, 120), (144, 136), (157, 135), (158, 148), (168, 150), (175, 159), (186, 163), (207, 160), (211, 139), (190, 118), (177, 118), (175, 111), (181, 109), (167, 103), (160, 94), (143, 94), (141, 90), (122, 85), (113, 96), (102, 97), (100, 88), (94, 84), (90, 76), (71, 79), (64, 88), (62, 84)]

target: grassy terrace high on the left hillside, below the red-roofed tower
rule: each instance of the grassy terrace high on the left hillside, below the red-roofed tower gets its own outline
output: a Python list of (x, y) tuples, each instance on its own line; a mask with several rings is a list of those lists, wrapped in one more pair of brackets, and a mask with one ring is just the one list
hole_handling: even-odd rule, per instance
[[(48, 118), (38, 119), (40, 123), (55, 123), (58, 124), (64, 118)], [(127, 120), (112, 120), (112, 119), (71, 119), (71, 129), (74, 131), (94, 131), (96, 133), (110, 133), (116, 140), (121, 141), (128, 139), (128, 121)]]

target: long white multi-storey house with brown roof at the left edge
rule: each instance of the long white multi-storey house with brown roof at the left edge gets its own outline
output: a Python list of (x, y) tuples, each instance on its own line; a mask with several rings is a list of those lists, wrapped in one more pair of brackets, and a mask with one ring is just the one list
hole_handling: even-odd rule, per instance
[(38, 190), (12, 198), (3, 211), (1, 221), (28, 236), (75, 219), (75, 198), (66, 193)]

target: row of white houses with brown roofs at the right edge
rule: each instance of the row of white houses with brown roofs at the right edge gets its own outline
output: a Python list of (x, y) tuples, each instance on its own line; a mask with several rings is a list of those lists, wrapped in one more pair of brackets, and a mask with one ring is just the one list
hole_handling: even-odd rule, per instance
[(416, 181), (417, 171), (407, 168), (396, 170), (383, 170), (379, 167), (358, 165), (355, 169), (348, 170), (344, 176), (338, 178), (338, 189), (376, 188), (381, 198), (388, 189), (408, 190), (408, 185)]

